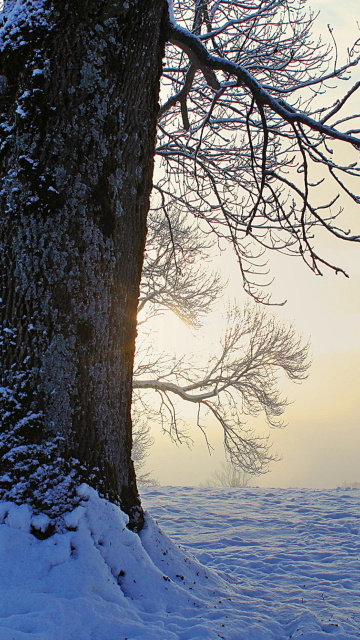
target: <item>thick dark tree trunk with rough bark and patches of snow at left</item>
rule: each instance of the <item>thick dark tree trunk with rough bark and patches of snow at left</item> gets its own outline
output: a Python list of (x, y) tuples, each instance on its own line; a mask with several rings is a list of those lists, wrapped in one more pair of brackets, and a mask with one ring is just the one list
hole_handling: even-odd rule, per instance
[(131, 380), (166, 7), (5, 0), (0, 496), (52, 517), (87, 481), (142, 523)]

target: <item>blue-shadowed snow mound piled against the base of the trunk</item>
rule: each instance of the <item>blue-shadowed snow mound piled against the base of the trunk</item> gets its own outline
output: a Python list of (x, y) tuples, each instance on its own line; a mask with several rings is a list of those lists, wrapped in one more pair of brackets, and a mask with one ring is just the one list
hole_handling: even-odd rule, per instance
[[(82, 485), (64, 530), (41, 540), (47, 516), (0, 504), (1, 640), (219, 638), (212, 601), (227, 582), (174, 545), (146, 515), (141, 536), (127, 516)], [(209, 609), (213, 607), (215, 615)], [(209, 620), (211, 629), (209, 629)]]

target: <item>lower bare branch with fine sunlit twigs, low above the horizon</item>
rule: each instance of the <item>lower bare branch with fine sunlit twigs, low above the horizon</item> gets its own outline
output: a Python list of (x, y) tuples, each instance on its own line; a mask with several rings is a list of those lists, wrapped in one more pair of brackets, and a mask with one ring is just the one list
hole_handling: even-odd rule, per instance
[[(246, 307), (231, 310), (219, 355), (213, 355), (205, 368), (190, 362), (177, 362), (173, 373), (144, 379), (135, 376), (133, 387), (139, 392), (152, 389), (160, 394), (162, 407), (170, 417), (170, 432), (176, 425), (177, 409), (170, 397), (193, 403), (210, 411), (220, 424), (225, 448), (231, 460), (253, 473), (261, 473), (273, 456), (268, 439), (254, 436), (246, 427), (246, 416), (264, 414), (272, 427), (279, 420), (286, 399), (279, 391), (278, 375), (293, 381), (306, 377), (308, 345), (296, 337), (293, 327), (285, 328), (264, 309)], [(200, 416), (198, 426), (206, 433)]]

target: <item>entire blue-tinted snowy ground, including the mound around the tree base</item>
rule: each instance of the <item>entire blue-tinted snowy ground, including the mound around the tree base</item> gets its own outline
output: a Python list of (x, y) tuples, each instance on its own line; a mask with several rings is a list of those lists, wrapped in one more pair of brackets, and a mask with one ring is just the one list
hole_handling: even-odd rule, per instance
[(142, 493), (172, 541), (87, 487), (42, 541), (0, 503), (0, 640), (360, 638), (359, 490)]

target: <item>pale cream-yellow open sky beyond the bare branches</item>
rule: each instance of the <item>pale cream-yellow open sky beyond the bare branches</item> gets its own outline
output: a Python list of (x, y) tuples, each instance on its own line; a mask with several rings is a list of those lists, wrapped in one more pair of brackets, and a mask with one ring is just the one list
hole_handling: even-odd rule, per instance
[[(321, 10), (320, 25), (333, 26), (339, 50), (357, 37), (358, 0), (317, 0), (310, 5)], [(353, 78), (360, 78), (360, 70)], [(352, 109), (359, 112), (359, 104), (358, 96)], [(344, 206), (350, 219), (359, 220), (359, 233), (360, 207), (356, 211), (348, 200)], [(284, 321), (294, 321), (297, 331), (311, 339), (313, 363), (307, 381), (286, 385), (286, 395), (293, 401), (285, 413), (288, 426), (271, 432), (273, 450), (282, 460), (254, 480), (259, 486), (331, 488), (360, 481), (360, 245), (323, 240), (322, 248), (345, 268), (349, 279), (332, 272), (315, 277), (294, 259), (279, 257), (272, 262), (274, 294), (287, 299), (277, 313)], [(228, 262), (233, 274), (236, 266), (230, 258)], [(167, 319), (166, 328), (175, 341), (186, 339), (177, 321)], [(156, 435), (148, 468), (161, 484), (198, 485), (219, 467), (220, 427), (210, 425), (215, 448), (211, 457), (195, 426), (191, 436), (195, 444), (190, 451)]]

